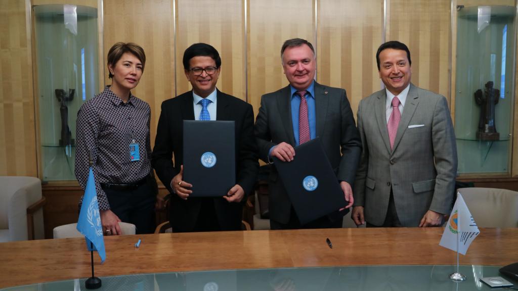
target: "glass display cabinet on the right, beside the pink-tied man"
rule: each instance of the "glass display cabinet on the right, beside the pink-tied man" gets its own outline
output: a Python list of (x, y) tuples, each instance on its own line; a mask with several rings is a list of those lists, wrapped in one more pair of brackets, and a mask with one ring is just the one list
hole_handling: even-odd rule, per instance
[(457, 6), (455, 135), (458, 173), (511, 172), (516, 7)]

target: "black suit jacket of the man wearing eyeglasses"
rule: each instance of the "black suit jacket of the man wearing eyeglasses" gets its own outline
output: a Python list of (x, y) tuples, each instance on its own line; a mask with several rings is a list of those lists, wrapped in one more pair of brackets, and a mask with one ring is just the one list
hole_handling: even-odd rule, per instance
[[(259, 168), (255, 154), (252, 106), (219, 90), (217, 98), (216, 119), (234, 121), (236, 125), (236, 181), (247, 195), (253, 190)], [(222, 230), (240, 229), (242, 203), (229, 203), (222, 197), (190, 197), (183, 200), (172, 192), (170, 182), (180, 172), (180, 165), (183, 164), (183, 120), (194, 120), (192, 91), (162, 103), (151, 159), (157, 176), (172, 194), (169, 220), (173, 231), (193, 230), (202, 199), (214, 200), (215, 212)], [(175, 163), (171, 160), (173, 154)], [(224, 195), (226, 193), (221, 193), (221, 196)]]

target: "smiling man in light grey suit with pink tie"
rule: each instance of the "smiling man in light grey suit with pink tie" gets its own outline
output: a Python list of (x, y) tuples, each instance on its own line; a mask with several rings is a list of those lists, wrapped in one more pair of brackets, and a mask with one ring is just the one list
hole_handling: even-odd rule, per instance
[(457, 150), (444, 96), (410, 83), (410, 51), (383, 43), (376, 54), (385, 89), (363, 99), (363, 152), (354, 183), (356, 225), (440, 226), (455, 191)]

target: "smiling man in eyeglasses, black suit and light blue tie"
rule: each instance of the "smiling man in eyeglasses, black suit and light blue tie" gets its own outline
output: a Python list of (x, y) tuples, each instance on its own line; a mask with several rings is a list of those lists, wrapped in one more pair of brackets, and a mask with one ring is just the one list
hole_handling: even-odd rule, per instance
[[(255, 154), (252, 106), (216, 88), (221, 58), (206, 43), (183, 54), (185, 77), (193, 90), (162, 103), (151, 164), (171, 193), (169, 221), (174, 232), (241, 229), (242, 203), (259, 168)], [(189, 197), (193, 185), (183, 180), (183, 120), (226, 120), (236, 126), (237, 184), (221, 197)], [(171, 161), (174, 155), (175, 163)]]

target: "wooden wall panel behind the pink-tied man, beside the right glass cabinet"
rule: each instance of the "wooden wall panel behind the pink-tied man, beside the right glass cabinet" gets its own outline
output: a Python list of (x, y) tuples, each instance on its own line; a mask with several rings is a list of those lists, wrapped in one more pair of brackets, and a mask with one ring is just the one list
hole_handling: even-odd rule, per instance
[(450, 100), (449, 0), (391, 0), (386, 40), (410, 49), (412, 83)]

